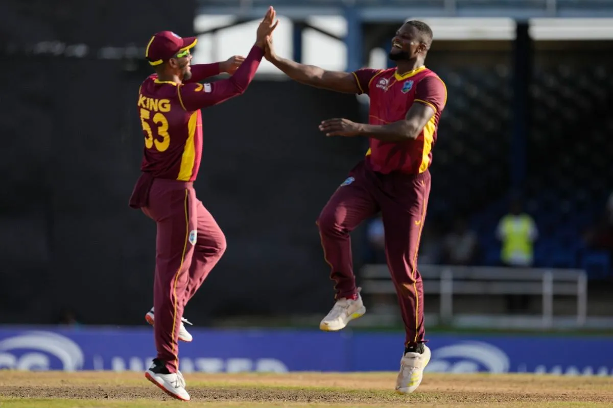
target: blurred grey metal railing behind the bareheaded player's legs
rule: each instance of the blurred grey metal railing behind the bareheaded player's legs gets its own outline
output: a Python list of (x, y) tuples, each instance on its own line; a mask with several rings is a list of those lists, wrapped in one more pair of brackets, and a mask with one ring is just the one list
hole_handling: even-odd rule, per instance
[[(554, 295), (577, 298), (577, 325), (587, 318), (587, 273), (580, 269), (528, 269), (419, 265), (425, 294), (440, 295), (440, 317), (453, 319), (454, 295), (541, 295), (543, 327), (554, 321)], [(385, 264), (367, 264), (360, 271), (364, 294), (395, 294)]]

